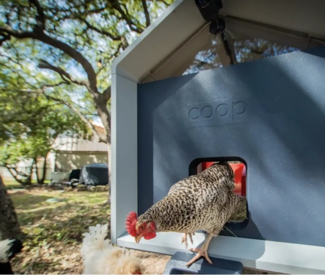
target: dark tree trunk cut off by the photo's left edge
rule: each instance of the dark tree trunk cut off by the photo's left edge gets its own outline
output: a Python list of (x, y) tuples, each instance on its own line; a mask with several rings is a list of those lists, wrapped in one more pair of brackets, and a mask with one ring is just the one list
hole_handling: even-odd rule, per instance
[(1, 239), (21, 236), (19, 222), (13, 202), (7, 193), (0, 175), (0, 235)]

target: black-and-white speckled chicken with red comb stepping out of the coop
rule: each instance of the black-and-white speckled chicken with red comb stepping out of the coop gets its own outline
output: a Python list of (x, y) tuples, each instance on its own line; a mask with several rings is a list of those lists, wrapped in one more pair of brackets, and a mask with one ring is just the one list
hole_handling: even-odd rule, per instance
[(233, 192), (234, 173), (228, 162), (214, 163), (199, 174), (189, 176), (171, 186), (168, 194), (137, 217), (130, 212), (126, 217), (127, 232), (135, 242), (152, 239), (157, 232), (184, 233), (182, 242), (187, 246), (193, 232), (204, 230), (208, 236), (187, 266), (200, 256), (212, 263), (207, 248), (213, 236), (218, 235), (230, 215), (239, 205), (239, 197)]

